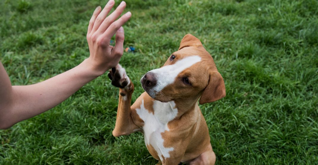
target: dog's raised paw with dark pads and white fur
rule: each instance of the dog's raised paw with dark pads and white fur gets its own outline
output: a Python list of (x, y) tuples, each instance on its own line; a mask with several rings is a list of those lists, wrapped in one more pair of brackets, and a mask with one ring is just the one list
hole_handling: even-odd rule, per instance
[(129, 89), (130, 79), (127, 76), (125, 68), (121, 67), (120, 64), (109, 70), (108, 77), (112, 80), (113, 86)]

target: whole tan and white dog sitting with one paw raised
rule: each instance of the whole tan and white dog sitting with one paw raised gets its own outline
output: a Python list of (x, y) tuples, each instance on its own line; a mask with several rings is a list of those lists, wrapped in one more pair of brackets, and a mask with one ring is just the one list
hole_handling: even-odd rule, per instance
[(134, 84), (125, 69), (117, 65), (108, 76), (120, 87), (114, 136), (141, 131), (158, 164), (215, 163), (209, 130), (197, 102), (225, 97), (225, 85), (199, 39), (185, 35), (163, 67), (146, 73), (141, 78), (146, 92), (132, 106)]

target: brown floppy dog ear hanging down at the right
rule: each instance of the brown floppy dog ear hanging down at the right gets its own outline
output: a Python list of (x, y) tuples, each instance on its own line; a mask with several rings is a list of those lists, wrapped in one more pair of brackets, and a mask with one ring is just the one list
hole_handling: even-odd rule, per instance
[(225, 97), (225, 84), (220, 73), (211, 72), (208, 86), (200, 98), (200, 104), (210, 103)]

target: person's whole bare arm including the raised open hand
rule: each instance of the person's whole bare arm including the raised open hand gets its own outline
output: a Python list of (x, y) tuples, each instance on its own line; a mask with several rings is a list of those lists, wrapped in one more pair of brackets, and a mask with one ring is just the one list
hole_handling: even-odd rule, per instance
[[(10, 79), (0, 62), (0, 129), (10, 128), (22, 120), (41, 114), (70, 97), (89, 81), (115, 67), (122, 54), (124, 30), (121, 27), (131, 16), (128, 12), (116, 20), (126, 7), (122, 2), (108, 17), (114, 0), (105, 8), (97, 7), (89, 22), (87, 42), (90, 56), (81, 64), (47, 79), (28, 86), (11, 86)], [(116, 33), (116, 45), (110, 46)]]

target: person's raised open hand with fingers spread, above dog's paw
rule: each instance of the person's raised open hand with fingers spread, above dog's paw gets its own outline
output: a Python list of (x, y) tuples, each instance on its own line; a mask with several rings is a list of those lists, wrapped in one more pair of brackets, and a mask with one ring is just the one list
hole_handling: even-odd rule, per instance
[[(86, 60), (99, 75), (116, 67), (124, 51), (125, 36), (121, 26), (129, 20), (131, 13), (127, 12), (115, 21), (125, 9), (126, 3), (122, 1), (117, 9), (107, 16), (114, 4), (114, 0), (109, 0), (103, 10), (98, 6), (88, 25), (86, 38), (90, 55)], [(109, 44), (115, 33), (116, 44), (113, 47)]]

